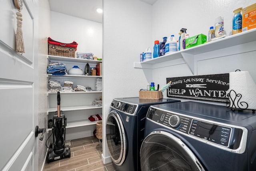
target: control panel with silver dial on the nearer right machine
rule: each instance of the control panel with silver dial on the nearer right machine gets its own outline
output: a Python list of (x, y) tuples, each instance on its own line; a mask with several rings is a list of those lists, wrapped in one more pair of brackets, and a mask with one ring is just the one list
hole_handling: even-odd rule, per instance
[[(242, 130), (239, 130), (239, 128), (224, 126), (219, 123), (214, 123), (213, 121), (156, 109), (152, 106), (148, 110), (147, 118), (169, 129), (186, 134), (187, 136), (196, 137), (202, 141), (210, 141), (216, 145), (228, 148), (230, 146), (232, 146), (232, 148), (239, 147), (242, 137)], [(235, 139), (234, 134), (238, 136), (235, 137)], [(237, 142), (230, 145), (230, 137), (233, 137), (232, 143), (233, 141)], [(234, 147), (234, 145), (236, 147)]]

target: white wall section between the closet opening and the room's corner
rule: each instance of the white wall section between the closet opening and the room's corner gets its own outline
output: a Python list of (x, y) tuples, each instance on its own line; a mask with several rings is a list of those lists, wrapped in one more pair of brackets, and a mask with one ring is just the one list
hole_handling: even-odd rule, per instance
[[(139, 90), (152, 81), (150, 70), (133, 68), (134, 62), (140, 62), (140, 53), (151, 44), (152, 6), (138, 0), (107, 0), (103, 1), (103, 8), (103, 123), (106, 123), (113, 98), (138, 97)], [(110, 162), (105, 140), (103, 137), (102, 159)]]

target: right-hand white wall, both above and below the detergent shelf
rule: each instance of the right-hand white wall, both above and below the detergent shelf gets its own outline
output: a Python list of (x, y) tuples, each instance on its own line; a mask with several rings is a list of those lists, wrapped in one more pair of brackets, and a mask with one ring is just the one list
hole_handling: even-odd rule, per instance
[[(150, 48), (154, 46), (154, 40), (162, 40), (164, 36), (169, 37), (174, 34), (178, 38), (181, 28), (186, 28), (190, 36), (197, 34), (208, 35), (210, 26), (214, 26), (217, 16), (224, 16), (224, 30), (227, 35), (232, 33), (233, 11), (240, 7), (246, 7), (256, 3), (256, 0), (215, 0), (215, 1), (170, 1), (158, 0), (152, 6), (152, 40)], [(182, 8), (182, 10), (180, 10)], [(251, 44), (255, 44), (252, 42)], [(227, 48), (226, 51), (233, 51)], [(231, 56), (222, 56), (215, 52), (212, 59), (200, 60), (195, 56), (197, 68), (196, 75), (224, 74), (234, 72), (237, 69), (248, 71), (256, 82), (256, 70), (253, 64), (256, 63), (256, 51), (252, 49), (250, 53), (238, 53)], [(204, 54), (212, 55), (211, 53)], [(173, 66), (158, 68), (153, 70), (154, 82), (164, 85), (166, 78), (192, 76), (188, 66), (182, 59), (174, 60)], [(164, 98), (166, 92), (164, 93)], [(184, 100), (184, 99), (181, 99)]]

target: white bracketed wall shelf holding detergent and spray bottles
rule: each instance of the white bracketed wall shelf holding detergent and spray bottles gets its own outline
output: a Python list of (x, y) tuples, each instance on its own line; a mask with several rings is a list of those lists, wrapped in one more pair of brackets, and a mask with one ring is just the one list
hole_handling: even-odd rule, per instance
[[(148, 68), (155, 69), (166, 66), (164, 62), (171, 60), (176, 60), (179, 58), (184, 58), (185, 62), (188, 64), (191, 72), (194, 74), (194, 56), (198, 54), (203, 54), (206, 52), (211, 52), (214, 50), (219, 50), (223, 48), (229, 48), (232, 46), (245, 44), (249, 42), (256, 41), (256, 28), (248, 30), (246, 32), (241, 32), (232, 36), (221, 38), (212, 42), (208, 42), (202, 45), (195, 46), (193, 48), (188, 48), (182, 51), (174, 52), (172, 54), (167, 54), (160, 56), (158, 58), (153, 58), (151, 60), (143, 62), (134, 62), (134, 68)], [(163, 65), (158, 65), (163, 63)]]

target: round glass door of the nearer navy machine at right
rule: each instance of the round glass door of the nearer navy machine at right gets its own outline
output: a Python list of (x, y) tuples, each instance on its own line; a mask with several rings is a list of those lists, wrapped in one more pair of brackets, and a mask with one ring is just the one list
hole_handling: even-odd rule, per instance
[(140, 149), (142, 171), (204, 171), (192, 151), (176, 136), (154, 131)]

